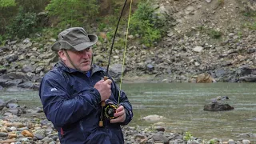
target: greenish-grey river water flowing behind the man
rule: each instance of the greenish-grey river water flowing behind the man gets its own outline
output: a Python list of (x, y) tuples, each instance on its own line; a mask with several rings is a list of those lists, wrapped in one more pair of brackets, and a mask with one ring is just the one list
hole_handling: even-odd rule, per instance
[[(256, 83), (136, 83), (122, 84), (134, 107), (129, 126), (151, 126), (140, 118), (158, 114), (166, 119), (166, 131), (187, 132), (201, 139), (232, 138), (256, 133)], [(234, 110), (211, 112), (203, 110), (210, 99), (227, 96)], [(0, 98), (18, 98), (20, 105), (42, 106), (38, 91), (1, 92)], [(247, 138), (254, 141), (255, 138)]]

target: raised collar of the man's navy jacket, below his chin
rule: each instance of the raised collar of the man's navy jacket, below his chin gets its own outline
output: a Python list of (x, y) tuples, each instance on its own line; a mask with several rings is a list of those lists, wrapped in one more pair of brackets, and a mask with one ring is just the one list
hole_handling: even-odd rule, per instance
[[(65, 70), (68, 73), (76, 73), (76, 72), (78, 72), (78, 73), (86, 74), (86, 72), (82, 72), (80, 70), (72, 69), (72, 68), (66, 66), (66, 64), (64, 62), (62, 62), (62, 61), (59, 61), (58, 63), (56, 63), (54, 67), (58, 67), (58, 68), (60, 68), (62, 70)], [(106, 69), (102, 68), (101, 66), (97, 66), (97, 65), (93, 64), (91, 66), (91, 69), (90, 69), (90, 72), (91, 72), (90, 75), (92, 75), (92, 74), (94, 74), (94, 73), (96, 73), (98, 71), (103, 71), (103, 72), (106, 73)]]

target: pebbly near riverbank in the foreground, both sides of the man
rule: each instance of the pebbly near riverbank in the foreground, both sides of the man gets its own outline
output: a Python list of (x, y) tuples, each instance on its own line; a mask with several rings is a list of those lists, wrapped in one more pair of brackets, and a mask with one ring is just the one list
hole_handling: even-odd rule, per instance
[[(43, 114), (42, 108), (27, 109), (19, 106), (16, 99), (6, 102), (0, 100), (0, 143), (6, 144), (58, 144), (58, 132)], [(126, 144), (158, 143), (158, 144), (250, 144), (250, 138), (256, 138), (256, 134), (240, 134), (238, 140), (232, 139), (200, 139), (194, 138), (190, 132), (177, 133), (166, 131), (162, 117), (149, 115), (142, 121), (154, 121), (152, 126), (123, 126), (122, 131)]]

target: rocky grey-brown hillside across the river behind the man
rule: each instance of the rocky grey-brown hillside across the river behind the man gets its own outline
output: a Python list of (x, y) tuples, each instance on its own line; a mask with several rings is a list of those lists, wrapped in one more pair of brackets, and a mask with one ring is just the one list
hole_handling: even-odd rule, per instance
[[(154, 47), (129, 35), (124, 82), (194, 82), (204, 73), (217, 82), (256, 82), (255, 0), (158, 0), (152, 5), (168, 18), (170, 29)], [(50, 50), (57, 35), (36, 35), (42, 42), (26, 38), (0, 47), (0, 86), (37, 89), (58, 61)], [(108, 50), (98, 42), (94, 61), (106, 66)], [(123, 51), (113, 51), (111, 65), (117, 71)]]

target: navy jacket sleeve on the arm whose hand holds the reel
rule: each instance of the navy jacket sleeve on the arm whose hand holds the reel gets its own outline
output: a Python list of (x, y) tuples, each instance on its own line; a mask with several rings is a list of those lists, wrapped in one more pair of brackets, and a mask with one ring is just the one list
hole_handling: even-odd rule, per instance
[[(114, 83), (113, 81), (113, 85), (114, 85), (114, 89), (112, 88), (112, 91), (114, 91), (114, 98), (116, 98), (117, 102), (118, 102), (118, 97), (119, 97), (119, 88), (118, 86)], [(113, 87), (113, 86), (112, 86)], [(126, 120), (125, 122), (122, 122), (121, 125), (127, 125), (133, 118), (134, 114), (133, 114), (133, 108), (126, 96), (126, 93), (123, 92), (122, 90), (120, 91), (120, 99), (119, 99), (119, 105), (124, 106), (125, 111), (126, 111)]]

